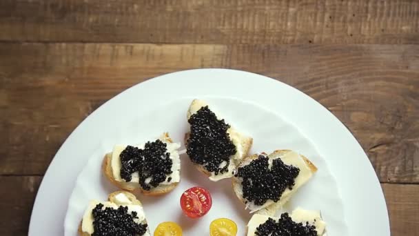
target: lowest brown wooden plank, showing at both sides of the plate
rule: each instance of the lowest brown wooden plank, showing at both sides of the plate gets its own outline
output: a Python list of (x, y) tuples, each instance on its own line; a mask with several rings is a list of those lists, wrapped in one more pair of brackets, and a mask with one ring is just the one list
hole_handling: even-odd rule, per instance
[[(39, 176), (0, 176), (0, 235), (28, 235), (34, 197), (41, 183)], [(391, 235), (415, 236), (419, 232), (419, 185), (382, 184), (389, 210)]]

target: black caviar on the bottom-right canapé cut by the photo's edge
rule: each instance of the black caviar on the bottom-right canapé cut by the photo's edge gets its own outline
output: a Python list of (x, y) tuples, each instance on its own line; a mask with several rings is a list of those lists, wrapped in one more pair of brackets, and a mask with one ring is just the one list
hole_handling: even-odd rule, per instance
[(263, 224), (256, 228), (255, 235), (258, 236), (317, 236), (315, 226), (309, 225), (308, 222), (296, 223), (292, 221), (288, 213), (280, 215), (280, 219), (276, 222), (269, 218)]

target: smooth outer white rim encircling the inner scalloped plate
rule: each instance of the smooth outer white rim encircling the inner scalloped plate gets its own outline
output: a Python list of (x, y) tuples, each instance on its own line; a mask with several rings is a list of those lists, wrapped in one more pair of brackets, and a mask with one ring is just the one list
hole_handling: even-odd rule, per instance
[[(227, 81), (223, 80), (223, 77), (228, 78)], [(174, 81), (176, 80), (176, 81)], [(187, 83), (188, 85), (193, 85), (194, 90), (193, 91), (185, 91), (185, 88), (179, 87), (180, 82)], [(238, 92), (236, 90), (229, 90), (229, 88), (236, 88), (236, 85), (234, 83), (239, 82), (238, 84), (240, 86), (244, 86), (244, 91)], [(162, 84), (163, 83), (163, 84)], [(217, 83), (227, 83), (229, 86), (219, 87), (217, 86)], [(202, 86), (202, 84), (205, 84), (205, 86)], [(293, 120), (289, 120), (288, 117), (285, 117), (287, 121), (289, 121), (291, 124), (297, 126), (311, 141), (315, 144), (316, 148), (318, 149), (319, 153), (323, 155), (329, 156), (330, 153), (336, 153), (336, 148), (343, 148), (343, 150), (346, 150), (347, 153), (343, 153), (343, 156), (349, 156), (353, 158), (354, 160), (352, 162), (357, 162), (358, 169), (360, 169), (360, 173), (354, 173), (352, 176), (349, 175), (352, 179), (358, 179), (358, 180), (366, 180), (363, 182), (360, 182), (360, 186), (357, 186), (354, 184), (354, 181), (351, 181), (352, 179), (345, 179), (348, 177), (347, 173), (345, 173), (345, 170), (352, 169), (355, 170), (354, 164), (347, 164), (345, 163), (344, 166), (338, 167), (338, 170), (332, 171), (332, 173), (340, 173), (341, 176), (336, 176), (336, 181), (338, 184), (345, 183), (344, 185), (347, 186), (345, 188), (351, 188), (353, 190), (358, 190), (360, 188), (364, 190), (369, 190), (369, 197), (365, 195), (358, 195), (358, 196), (352, 196), (351, 198), (352, 205), (351, 207), (345, 207), (345, 188), (340, 190), (340, 195), (343, 197), (344, 201), (344, 210), (345, 210), (345, 219), (347, 220), (347, 224), (351, 225), (351, 223), (357, 225), (360, 228), (363, 228), (364, 230), (357, 230), (357, 228), (349, 228), (349, 232), (351, 230), (353, 232), (350, 233), (350, 235), (369, 235), (369, 233), (366, 233), (366, 229), (368, 228), (380, 228), (382, 230), (380, 235), (390, 235), (390, 228), (389, 228), (389, 217), (387, 212), (387, 206), (385, 204), (385, 198), (382, 193), (382, 188), (380, 186), (380, 182), (378, 181), (378, 177), (374, 171), (374, 168), (369, 161), (367, 155), (365, 154), (364, 150), (362, 150), (360, 144), (355, 139), (355, 137), (351, 134), (351, 132), (347, 129), (347, 127), (339, 121), (337, 117), (335, 117), (327, 108), (322, 106), (318, 101), (312, 99), (308, 95), (305, 95), (300, 90), (297, 90), (296, 88), (289, 86), (283, 82), (280, 82), (276, 79), (272, 79), (263, 75), (254, 74), (252, 72), (245, 72), (241, 70), (229, 70), (229, 69), (218, 69), (218, 68), (206, 68), (206, 69), (194, 69), (194, 70), (183, 70), (178, 72), (172, 72), (169, 74), (161, 75), (159, 77), (154, 77), (154, 79), (148, 79), (147, 81), (143, 81), (142, 83), (138, 83), (135, 86), (132, 86), (131, 88), (127, 88), (127, 90), (124, 90), (123, 92), (119, 93), (119, 95), (116, 95), (112, 99), (106, 101), (102, 106), (97, 108), (92, 114), (90, 114), (88, 117), (86, 117), (79, 126), (77, 126), (72, 133), (69, 135), (69, 137), (64, 141), (63, 145), (59, 148), (57, 151), (57, 154), (52, 159), (50, 166), (48, 166), (48, 170), (46, 171), (43, 180), (41, 182), (41, 185), (39, 186), (39, 190), (37, 193), (37, 197), (34, 201), (34, 206), (32, 208), (32, 214), (30, 217), (30, 226), (29, 226), (29, 235), (37, 235), (37, 233), (41, 234), (40, 232), (45, 232), (45, 227), (42, 227), (42, 222), (45, 220), (42, 217), (39, 217), (41, 215), (44, 215), (44, 211), (42, 210), (43, 207), (48, 206), (48, 199), (50, 199), (50, 196), (48, 196), (48, 192), (52, 193), (52, 195), (57, 195), (57, 193), (51, 192), (52, 188), (57, 188), (57, 185), (54, 185), (55, 181), (54, 178), (61, 178), (63, 181), (67, 181), (68, 183), (72, 183), (71, 186), (74, 186), (74, 183), (76, 181), (76, 177), (79, 175), (79, 171), (81, 168), (76, 171), (74, 175), (72, 175), (72, 178), (68, 177), (67, 179), (63, 179), (63, 177), (58, 175), (53, 175), (54, 173), (58, 173), (57, 170), (59, 167), (65, 162), (69, 162), (70, 160), (65, 159), (65, 151), (72, 148), (72, 146), (76, 146), (75, 144), (80, 144), (80, 141), (77, 141), (77, 136), (80, 137), (80, 135), (83, 135), (83, 131), (86, 132), (86, 129), (89, 129), (89, 127), (97, 127), (101, 126), (103, 122), (99, 121), (97, 122), (98, 117), (104, 115), (106, 112), (109, 112), (110, 108), (115, 108), (115, 106), (118, 105), (119, 102), (123, 101), (121, 99), (129, 98), (134, 96), (134, 92), (138, 92), (136, 90), (146, 90), (147, 87), (159, 87), (161, 89), (161, 86), (165, 86), (163, 90), (170, 93), (171, 95), (176, 95), (176, 92), (167, 90), (167, 86), (173, 86), (172, 88), (176, 88), (176, 90), (182, 90), (183, 92), (190, 92), (189, 94), (185, 95), (183, 94), (183, 97), (200, 97), (205, 95), (210, 95), (210, 92), (213, 92), (214, 96), (220, 95), (225, 96), (227, 95), (230, 97), (236, 97), (238, 99), (241, 99), (241, 97), (247, 97), (246, 92), (255, 92), (255, 88), (263, 87), (264, 91), (267, 92), (285, 92), (289, 95), (292, 95), (289, 99), (291, 101), (294, 101), (298, 106), (289, 107), (289, 104), (285, 104), (285, 107), (281, 106), (281, 109), (285, 110), (293, 110), (294, 116)], [(201, 86), (201, 87), (200, 87)], [(217, 88), (214, 90), (214, 88)], [(213, 89), (213, 90), (211, 90)], [(256, 90), (258, 92), (258, 90)], [(145, 92), (145, 95), (148, 95), (150, 97), (153, 97), (154, 95), (150, 94), (150, 92)], [(260, 95), (263, 95), (263, 93), (260, 93)], [(283, 94), (277, 94), (278, 97), (283, 97), (285, 95)], [(294, 97), (293, 97), (294, 96)], [(134, 97), (140, 97), (141, 96), (134, 96)], [(150, 97), (144, 97), (144, 99), (149, 99)], [(278, 108), (275, 106), (272, 101), (266, 101), (264, 99), (267, 98), (261, 98), (262, 96), (255, 97), (254, 100), (250, 99), (250, 101), (256, 102), (257, 104), (260, 104), (262, 106), (265, 106), (267, 108), (270, 108), (274, 110), (275, 112), (278, 112)], [(288, 98), (288, 97), (285, 97)], [(248, 97), (247, 97), (248, 99)], [(257, 101), (256, 101), (257, 100)], [(139, 101), (142, 101), (139, 99)], [(264, 102), (265, 101), (265, 102)], [(284, 104), (281, 104), (284, 105)], [(309, 105), (300, 107), (299, 105)], [(301, 110), (303, 109), (303, 110)], [(325, 134), (315, 134), (316, 130), (318, 130), (318, 126), (311, 125), (307, 126), (307, 119), (302, 119), (300, 117), (296, 117), (294, 115), (294, 112), (302, 112), (301, 114), (307, 114), (312, 115), (311, 118), (314, 119), (315, 124), (326, 124), (329, 128), (337, 128), (334, 130), (334, 137), (327, 137)], [(92, 122), (95, 121), (97, 124), (93, 124)], [(303, 126), (303, 128), (301, 128)], [(307, 134), (307, 132), (309, 134)], [(321, 141), (313, 141), (312, 137), (318, 137), (318, 140)], [(323, 144), (325, 140), (331, 141), (331, 143), (335, 144), (336, 146), (331, 146), (329, 148), (325, 149), (325, 145)], [(339, 142), (339, 141), (340, 142)], [(321, 144), (320, 144), (321, 143)], [(345, 143), (346, 146), (343, 146), (342, 143)], [(320, 144), (320, 146), (319, 146)], [(94, 145), (94, 144), (92, 144)], [(88, 147), (83, 146), (83, 150), (87, 150)], [(325, 150), (325, 151), (324, 151)], [(339, 150), (339, 149), (338, 149)], [(90, 152), (89, 152), (90, 153)], [(327, 153), (327, 154), (325, 154)], [(330, 155), (332, 156), (332, 155)], [(87, 163), (87, 159), (83, 161), (83, 157), (78, 157), (81, 159), (82, 162)], [(334, 159), (330, 159), (330, 161), (336, 161)], [(358, 161), (360, 161), (358, 163)], [(81, 166), (81, 163), (71, 164), (70, 166)], [(330, 165), (329, 165), (330, 166)], [(359, 170), (358, 170), (359, 171)], [(366, 184), (368, 182), (368, 184)], [(62, 184), (64, 185), (64, 184)], [(63, 186), (59, 186), (61, 188), (65, 188)], [(70, 188), (70, 187), (68, 187)], [(72, 192), (72, 188), (70, 188), (69, 193)], [(51, 194), (50, 194), (51, 195)], [(374, 195), (374, 197), (371, 197), (371, 195)], [(65, 208), (62, 209), (63, 212), (61, 214), (62, 219), (61, 223), (64, 223), (64, 217), (65, 212), (67, 209), (68, 204), (68, 198), (70, 197), (70, 194), (63, 197), (65, 200), (64, 206), (59, 206), (55, 210), (55, 215), (60, 215), (60, 213), (57, 213), (59, 208)], [(373, 200), (374, 199), (374, 200)], [(348, 199), (346, 199), (349, 201)], [(43, 206), (41, 206), (43, 205)], [(362, 222), (362, 220), (357, 218), (365, 218), (364, 217), (358, 217), (359, 212), (354, 212), (355, 208), (361, 208), (363, 207), (369, 207), (369, 214), (375, 217), (376, 221), (372, 222), (372, 224), (376, 224), (377, 227), (371, 226), (371, 222)], [(371, 210), (372, 208), (375, 208)], [(363, 209), (363, 208), (362, 208)], [(50, 216), (51, 217), (51, 216)], [(55, 218), (54, 218), (55, 219)], [(57, 220), (57, 219), (55, 219)], [(55, 224), (55, 231), (63, 232), (63, 224)], [(372, 229), (371, 229), (372, 230)], [(372, 232), (372, 231), (371, 231)], [(376, 233), (376, 231), (374, 231)]]

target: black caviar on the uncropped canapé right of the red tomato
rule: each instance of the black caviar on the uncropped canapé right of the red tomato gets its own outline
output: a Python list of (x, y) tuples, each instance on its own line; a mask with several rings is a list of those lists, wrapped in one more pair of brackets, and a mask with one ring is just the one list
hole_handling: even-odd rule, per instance
[(295, 166), (288, 166), (278, 158), (272, 161), (269, 169), (269, 158), (259, 155), (247, 166), (238, 168), (236, 177), (243, 178), (243, 198), (246, 201), (254, 201), (254, 204), (262, 206), (268, 199), (278, 201), (285, 189), (292, 189), (294, 179), (300, 173)]

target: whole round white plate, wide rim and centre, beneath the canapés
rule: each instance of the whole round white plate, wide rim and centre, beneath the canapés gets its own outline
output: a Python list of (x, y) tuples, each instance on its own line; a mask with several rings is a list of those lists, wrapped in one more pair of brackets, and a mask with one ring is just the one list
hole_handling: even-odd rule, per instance
[[(243, 128), (254, 136), (254, 151), (294, 148), (304, 155), (312, 156), (310, 158), (319, 166), (319, 171), (298, 191), (292, 205), (301, 204), (305, 208), (322, 210), (325, 220), (329, 223), (330, 235), (390, 235), (387, 208), (374, 170), (356, 139), (336, 117), (307, 95), (284, 83), (249, 72), (221, 69), (188, 70), (157, 77), (126, 90), (93, 112), (72, 132), (48, 168), (32, 211), (29, 235), (64, 234), (62, 223), (68, 199), (76, 176), (85, 166), (74, 188), (68, 219), (65, 221), (68, 230), (66, 233), (69, 235), (74, 233), (74, 227), (78, 223), (76, 217), (83, 210), (85, 199), (91, 198), (92, 195), (94, 198), (105, 199), (106, 194), (112, 189), (106, 181), (101, 180), (96, 165), (101, 155), (116, 143), (136, 144), (159, 135), (164, 131), (161, 130), (162, 127), (167, 127), (165, 129), (172, 132), (175, 139), (181, 139), (181, 133), (186, 128), (184, 114), (190, 101), (185, 98), (208, 96), (211, 96), (209, 100), (217, 108), (219, 106), (218, 110), (222, 110), (228, 120), (232, 120), (238, 128)], [(243, 104), (242, 101), (246, 102)], [(170, 104), (183, 105), (176, 110), (172, 109)], [(234, 105), (237, 109), (227, 109), (229, 105)], [(276, 128), (289, 129), (285, 133), (292, 132), (295, 134), (292, 136), (295, 139), (283, 139), (281, 136), (275, 136), (280, 140), (278, 142), (256, 139), (256, 136), (263, 137), (263, 132), (260, 130), (266, 131), (266, 128), (263, 129), (266, 122), (245, 119), (252, 117), (247, 113), (241, 115), (239, 119), (234, 119), (237, 115), (235, 112), (243, 110), (245, 106), (262, 112), (264, 116), (269, 117), (267, 118), (269, 121), (278, 119), (280, 122)], [(183, 123), (171, 126), (167, 123), (159, 129), (154, 125), (139, 124), (139, 120), (150, 120), (153, 113), (161, 114), (159, 113), (161, 108), (170, 108), (167, 110), (171, 111), (168, 112), (167, 118), (183, 119)], [(160, 119), (162, 116), (158, 117)], [(154, 120), (158, 121), (155, 117)], [(287, 124), (285, 121), (289, 124), (280, 125)], [(252, 124), (253, 122), (256, 123)], [(255, 124), (261, 129), (252, 129)], [(300, 132), (294, 132), (296, 128)], [(141, 132), (130, 132), (132, 130), (141, 130)], [(267, 130), (265, 135), (272, 135), (272, 132)], [(182, 181), (173, 193), (154, 199), (140, 197), (146, 205), (146, 214), (152, 228), (163, 220), (172, 220), (190, 230), (185, 235), (191, 235), (189, 232), (192, 233), (196, 229), (196, 224), (203, 224), (207, 228), (212, 217), (225, 217), (226, 214), (243, 226), (248, 216), (237, 202), (232, 201), (232, 196), (229, 195), (231, 193), (226, 187), (228, 181), (212, 184), (198, 175), (196, 170), (187, 168), (188, 163), (187, 159), (183, 160), (185, 181)], [(85, 179), (86, 176), (89, 180)], [(201, 178), (196, 179), (191, 176)], [(179, 193), (196, 184), (210, 188), (214, 194), (214, 206), (210, 211), (212, 215), (191, 221), (180, 215), (173, 219), (172, 215), (164, 214), (167, 215), (166, 219), (166, 216), (156, 215), (159, 211), (149, 210), (163, 209), (163, 206), (173, 204), (170, 209), (174, 209), (174, 214), (179, 214), (177, 205)], [(330, 196), (334, 197), (327, 199)], [(343, 204), (340, 204), (340, 201)], [(227, 208), (226, 214), (221, 214), (221, 210)], [(345, 223), (349, 227), (345, 227)], [(241, 230), (243, 232), (244, 228)]]

